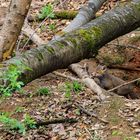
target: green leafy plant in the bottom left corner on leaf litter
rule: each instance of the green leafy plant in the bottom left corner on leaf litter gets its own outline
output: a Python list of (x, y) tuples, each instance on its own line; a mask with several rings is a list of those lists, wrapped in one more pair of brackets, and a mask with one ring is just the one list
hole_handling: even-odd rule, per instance
[(0, 122), (6, 130), (17, 130), (19, 133), (25, 134), (25, 125), (16, 119), (12, 119), (6, 115), (0, 115)]

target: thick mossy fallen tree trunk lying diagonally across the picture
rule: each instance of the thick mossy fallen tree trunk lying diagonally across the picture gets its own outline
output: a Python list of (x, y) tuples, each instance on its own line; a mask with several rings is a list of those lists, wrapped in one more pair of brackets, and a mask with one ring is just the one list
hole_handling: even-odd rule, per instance
[[(57, 41), (27, 51), (6, 64), (20, 60), (32, 71), (20, 77), (29, 82), (58, 68), (64, 68), (89, 56), (95, 55), (107, 42), (140, 26), (140, 0), (131, 2), (89, 22), (80, 29), (63, 35)], [(2, 74), (2, 70), (0, 71)]]

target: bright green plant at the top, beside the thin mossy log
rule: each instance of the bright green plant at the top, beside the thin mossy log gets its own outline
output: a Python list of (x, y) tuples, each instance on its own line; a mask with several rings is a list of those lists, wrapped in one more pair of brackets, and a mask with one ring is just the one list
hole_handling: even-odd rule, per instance
[(54, 17), (54, 12), (53, 12), (53, 5), (48, 4), (44, 7), (42, 7), (40, 14), (38, 15), (39, 19), (44, 19), (44, 18), (53, 18)]

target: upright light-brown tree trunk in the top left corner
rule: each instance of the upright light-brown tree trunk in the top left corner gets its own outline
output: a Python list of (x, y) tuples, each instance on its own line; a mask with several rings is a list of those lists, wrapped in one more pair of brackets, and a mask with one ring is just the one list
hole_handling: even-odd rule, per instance
[(0, 32), (0, 60), (11, 56), (32, 0), (12, 0)]

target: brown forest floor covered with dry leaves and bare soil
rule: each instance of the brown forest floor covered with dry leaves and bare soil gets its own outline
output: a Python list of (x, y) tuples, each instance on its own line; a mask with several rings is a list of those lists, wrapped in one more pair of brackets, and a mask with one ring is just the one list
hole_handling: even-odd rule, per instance
[[(46, 3), (52, 0), (46, 0)], [(44, 1), (33, 1), (35, 14), (43, 6)], [(68, 0), (60, 5), (62, 8), (78, 10), (85, 0)], [(3, 2), (4, 4), (4, 2)], [(114, 5), (114, 2), (112, 2)], [(106, 6), (110, 7), (110, 6)], [(56, 7), (58, 8), (58, 6)], [(105, 8), (103, 8), (105, 9)], [(51, 21), (49, 21), (51, 23)], [(56, 20), (59, 23), (56, 32), (62, 30), (70, 21)], [(32, 23), (36, 27), (37, 23)], [(48, 23), (46, 22), (46, 25)], [(45, 26), (46, 27), (46, 26)], [(48, 28), (37, 31), (40, 37), (49, 41), (54, 32)], [(30, 49), (29, 45), (28, 49)], [(131, 46), (131, 47), (130, 47)], [(36, 47), (34, 45), (34, 47)], [(88, 64), (90, 72), (95, 71), (98, 63), (112, 66), (109, 71), (130, 81), (140, 77), (140, 30), (137, 29), (125, 36), (108, 43), (103, 47), (96, 59), (85, 59), (81, 65)], [(113, 55), (112, 55), (113, 54)], [(97, 62), (98, 60), (98, 62)], [(123, 65), (120, 65), (122, 64)], [(122, 69), (117, 66), (127, 66), (132, 69)], [(68, 69), (57, 70), (59, 73), (76, 77)], [(45, 89), (45, 90), (42, 90)], [(140, 96), (139, 87), (135, 88)], [(81, 109), (82, 108), (82, 109)], [(120, 97), (117, 95), (109, 97), (100, 102), (97, 95), (83, 84), (71, 81), (68, 78), (56, 74), (46, 74), (27, 84), (11, 97), (0, 98), (0, 113), (8, 113), (10, 117), (23, 120), (26, 114), (35, 120), (52, 121), (73, 118), (77, 122), (66, 121), (40, 126), (29, 129), (23, 136), (15, 131), (7, 131), (0, 124), (0, 140), (139, 140), (140, 139), (140, 99)], [(97, 117), (95, 117), (95, 116)]]

